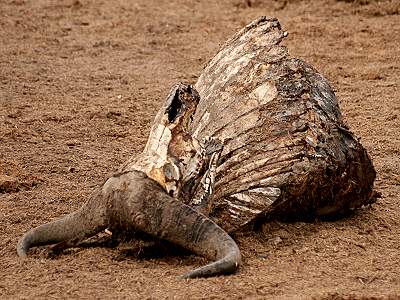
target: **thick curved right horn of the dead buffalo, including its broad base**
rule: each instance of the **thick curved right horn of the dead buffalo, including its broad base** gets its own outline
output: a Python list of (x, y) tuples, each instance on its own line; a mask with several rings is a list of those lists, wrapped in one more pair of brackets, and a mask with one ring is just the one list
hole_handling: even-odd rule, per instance
[(115, 199), (113, 206), (118, 223), (131, 225), (214, 261), (183, 278), (235, 272), (241, 264), (235, 241), (208, 217), (170, 197), (156, 181), (140, 173), (123, 174), (110, 193)]

